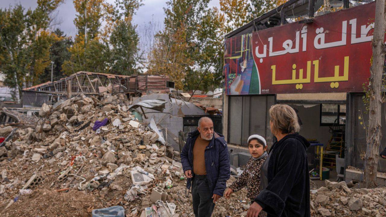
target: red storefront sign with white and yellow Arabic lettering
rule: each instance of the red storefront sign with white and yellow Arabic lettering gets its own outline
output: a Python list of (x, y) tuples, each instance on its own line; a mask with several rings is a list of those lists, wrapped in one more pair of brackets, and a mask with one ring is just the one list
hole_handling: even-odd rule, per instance
[(225, 41), (227, 94), (362, 92), (375, 3)]

